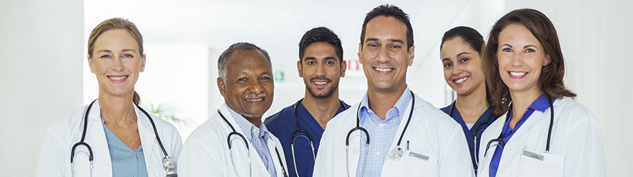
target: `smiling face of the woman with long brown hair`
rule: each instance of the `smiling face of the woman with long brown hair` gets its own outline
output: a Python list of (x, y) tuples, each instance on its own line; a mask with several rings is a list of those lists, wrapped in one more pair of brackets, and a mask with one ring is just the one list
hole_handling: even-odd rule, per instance
[(538, 80), (549, 56), (532, 32), (520, 24), (508, 25), (498, 37), (496, 55), (503, 83), (513, 92), (542, 92)]

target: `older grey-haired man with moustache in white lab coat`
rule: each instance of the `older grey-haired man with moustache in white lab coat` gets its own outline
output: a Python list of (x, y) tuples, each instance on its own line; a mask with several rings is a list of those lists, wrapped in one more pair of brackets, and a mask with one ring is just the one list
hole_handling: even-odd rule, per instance
[(261, 116), (273, 103), (268, 53), (236, 43), (218, 59), (217, 86), (224, 104), (183, 145), (180, 176), (287, 176), (281, 143)]

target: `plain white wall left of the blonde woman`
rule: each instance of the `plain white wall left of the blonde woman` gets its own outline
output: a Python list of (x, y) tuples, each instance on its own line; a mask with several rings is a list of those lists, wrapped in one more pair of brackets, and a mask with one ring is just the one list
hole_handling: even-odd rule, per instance
[(81, 106), (84, 1), (0, 1), (1, 176), (34, 176), (46, 129)]

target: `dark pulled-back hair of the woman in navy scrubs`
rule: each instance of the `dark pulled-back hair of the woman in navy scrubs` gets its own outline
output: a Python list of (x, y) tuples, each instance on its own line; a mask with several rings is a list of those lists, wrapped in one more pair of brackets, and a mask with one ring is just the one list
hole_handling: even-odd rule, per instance
[(465, 27), (458, 26), (452, 28), (446, 32), (444, 32), (444, 36), (442, 37), (442, 43), (440, 43), (440, 51), (442, 51), (442, 47), (444, 46), (444, 42), (450, 39), (455, 39), (456, 37), (460, 37), (464, 42), (470, 45), (470, 48), (479, 53), (481, 56), (481, 49), (484, 48), (484, 37), (477, 32), (477, 30)]

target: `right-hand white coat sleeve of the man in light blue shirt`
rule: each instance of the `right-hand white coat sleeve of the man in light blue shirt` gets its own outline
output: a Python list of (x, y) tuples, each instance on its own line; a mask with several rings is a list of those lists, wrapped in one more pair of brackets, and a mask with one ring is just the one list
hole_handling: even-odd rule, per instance
[(464, 132), (459, 125), (451, 126), (447, 133), (445, 147), (441, 149), (439, 169), (440, 176), (472, 176), (472, 162)]

